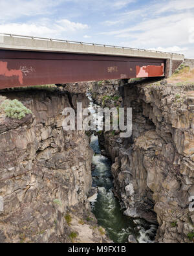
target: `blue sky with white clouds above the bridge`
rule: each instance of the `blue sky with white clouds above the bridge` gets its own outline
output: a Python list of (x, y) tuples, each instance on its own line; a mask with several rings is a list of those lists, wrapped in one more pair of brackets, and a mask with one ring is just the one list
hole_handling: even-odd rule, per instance
[(0, 33), (194, 58), (194, 0), (0, 0)]

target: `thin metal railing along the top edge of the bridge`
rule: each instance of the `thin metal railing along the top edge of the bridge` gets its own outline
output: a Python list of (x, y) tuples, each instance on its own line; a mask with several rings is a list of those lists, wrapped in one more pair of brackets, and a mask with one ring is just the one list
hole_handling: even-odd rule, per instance
[(53, 38), (41, 38), (41, 37), (38, 37), (38, 36), (22, 36), (22, 35), (17, 35), (17, 34), (6, 34), (6, 33), (0, 33), (0, 35), (16, 37), (16, 38), (30, 38), (30, 39), (33, 39), (33, 40), (59, 41), (61, 43), (76, 43), (76, 44), (81, 44), (81, 45), (113, 47), (113, 48), (120, 48), (120, 49), (129, 49), (129, 50), (133, 50), (133, 51), (135, 50), (135, 51), (147, 51), (147, 52), (158, 52), (158, 53), (165, 53), (165, 54), (183, 55), (181, 53), (174, 53), (174, 52), (163, 52), (163, 51), (155, 51), (155, 50), (148, 50), (148, 49), (118, 46), (118, 45), (103, 45), (103, 44), (100, 44), (100, 43), (86, 43), (86, 42), (83, 42), (83, 41), (70, 41), (70, 40), (60, 40), (60, 39), (53, 39)]

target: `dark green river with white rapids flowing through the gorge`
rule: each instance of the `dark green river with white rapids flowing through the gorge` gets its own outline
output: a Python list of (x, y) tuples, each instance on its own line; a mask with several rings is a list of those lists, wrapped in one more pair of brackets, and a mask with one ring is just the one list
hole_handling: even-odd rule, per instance
[(156, 226), (142, 219), (133, 219), (123, 214), (118, 199), (113, 194), (113, 176), (111, 161), (100, 154), (98, 137), (92, 135), (91, 148), (94, 150), (92, 163), (92, 186), (98, 187), (96, 201), (92, 202), (92, 212), (98, 224), (105, 228), (108, 237), (114, 242), (127, 242), (134, 235), (138, 242), (153, 242)]

